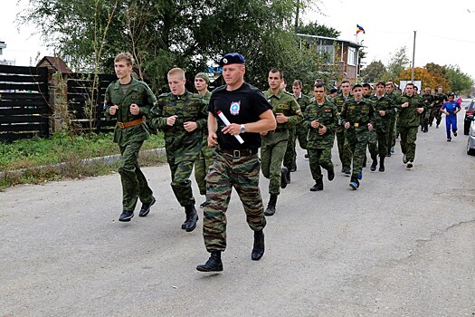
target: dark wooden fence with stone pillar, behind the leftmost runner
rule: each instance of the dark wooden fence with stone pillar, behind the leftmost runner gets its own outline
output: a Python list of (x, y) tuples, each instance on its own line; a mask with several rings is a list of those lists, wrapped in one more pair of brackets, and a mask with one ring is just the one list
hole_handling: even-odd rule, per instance
[[(99, 74), (94, 84), (92, 74), (53, 73), (48, 67), (0, 65), (0, 141), (48, 137), (65, 126), (111, 130), (115, 122), (104, 119), (102, 105), (116, 76)], [(62, 106), (64, 102), (66, 106)], [(69, 124), (65, 125), (65, 120)]]

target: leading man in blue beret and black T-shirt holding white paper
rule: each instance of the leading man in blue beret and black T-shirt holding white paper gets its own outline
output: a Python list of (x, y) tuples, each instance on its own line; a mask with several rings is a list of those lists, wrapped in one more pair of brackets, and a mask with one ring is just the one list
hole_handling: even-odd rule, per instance
[(260, 133), (275, 130), (277, 124), (261, 91), (244, 82), (244, 62), (240, 53), (228, 53), (221, 58), (226, 84), (216, 88), (209, 101), (208, 145), (216, 148), (216, 152), (206, 176), (209, 204), (204, 207), (203, 236), (211, 256), (205, 264), (196, 266), (200, 272), (223, 271), (226, 210), (233, 187), (242, 201), (247, 224), (254, 232), (251, 258), (257, 261), (264, 255), (262, 230), (266, 219), (259, 189), (261, 163), (257, 152), (261, 147)]

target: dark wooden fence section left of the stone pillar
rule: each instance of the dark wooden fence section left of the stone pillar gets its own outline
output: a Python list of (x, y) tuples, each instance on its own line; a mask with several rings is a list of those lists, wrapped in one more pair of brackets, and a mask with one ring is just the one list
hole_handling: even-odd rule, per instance
[(47, 67), (0, 65), (0, 140), (49, 135)]

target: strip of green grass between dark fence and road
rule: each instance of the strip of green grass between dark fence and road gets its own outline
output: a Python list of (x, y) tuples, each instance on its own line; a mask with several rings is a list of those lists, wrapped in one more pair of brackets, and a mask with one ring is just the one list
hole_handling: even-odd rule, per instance
[[(151, 135), (142, 150), (164, 146), (163, 134)], [(24, 139), (13, 143), (0, 142), (0, 190), (19, 184), (41, 184), (64, 178), (85, 178), (106, 175), (118, 168), (118, 162), (95, 161), (84, 164), (81, 159), (119, 154), (112, 142), (112, 133), (68, 136), (56, 134), (51, 139)], [(165, 156), (141, 153), (140, 166), (157, 166), (166, 162)], [(64, 163), (53, 166), (57, 163)], [(43, 167), (43, 168), (36, 168)], [(14, 170), (25, 168), (24, 173)]]

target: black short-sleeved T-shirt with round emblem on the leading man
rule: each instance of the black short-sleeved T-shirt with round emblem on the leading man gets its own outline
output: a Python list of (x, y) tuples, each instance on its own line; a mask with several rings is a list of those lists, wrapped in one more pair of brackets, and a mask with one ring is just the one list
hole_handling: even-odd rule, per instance
[(219, 110), (231, 123), (245, 124), (260, 120), (261, 114), (271, 109), (262, 92), (247, 82), (235, 91), (226, 91), (226, 85), (216, 88), (211, 95), (209, 111), (218, 120), (216, 134), (220, 148), (258, 149), (261, 147), (261, 134), (242, 133), (240, 135), (244, 143), (240, 144), (231, 134), (223, 134), (221, 131), (225, 125), (218, 116)]

